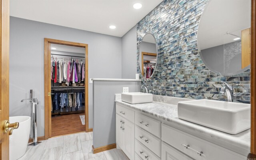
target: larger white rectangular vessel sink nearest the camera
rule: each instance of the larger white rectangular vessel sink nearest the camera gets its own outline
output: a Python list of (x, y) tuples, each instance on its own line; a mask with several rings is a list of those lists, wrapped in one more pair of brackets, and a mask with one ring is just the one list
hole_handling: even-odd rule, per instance
[(178, 102), (178, 118), (229, 134), (250, 128), (250, 104), (217, 100)]

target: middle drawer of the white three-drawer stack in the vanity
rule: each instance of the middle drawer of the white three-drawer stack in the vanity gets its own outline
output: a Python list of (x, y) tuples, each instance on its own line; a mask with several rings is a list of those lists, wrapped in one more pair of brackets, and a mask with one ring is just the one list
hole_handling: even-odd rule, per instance
[(160, 157), (161, 140), (135, 126), (135, 138)]

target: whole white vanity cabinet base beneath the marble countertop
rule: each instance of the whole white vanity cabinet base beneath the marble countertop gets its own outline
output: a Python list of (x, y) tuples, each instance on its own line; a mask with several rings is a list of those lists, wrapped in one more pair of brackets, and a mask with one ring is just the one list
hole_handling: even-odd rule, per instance
[(116, 104), (116, 144), (130, 160), (245, 160), (246, 156)]

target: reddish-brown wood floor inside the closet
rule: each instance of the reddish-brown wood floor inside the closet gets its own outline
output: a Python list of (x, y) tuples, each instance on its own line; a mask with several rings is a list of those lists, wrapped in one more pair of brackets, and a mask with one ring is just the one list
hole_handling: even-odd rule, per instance
[(84, 113), (52, 117), (52, 137), (85, 132), (85, 125), (82, 125), (80, 115)]

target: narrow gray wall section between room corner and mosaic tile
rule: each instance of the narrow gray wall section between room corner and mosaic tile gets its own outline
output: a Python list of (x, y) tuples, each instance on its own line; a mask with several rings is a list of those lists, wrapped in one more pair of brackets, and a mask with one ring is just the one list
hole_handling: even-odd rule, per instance
[(137, 72), (137, 25), (122, 37), (122, 78), (135, 79)]

